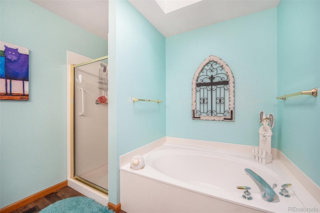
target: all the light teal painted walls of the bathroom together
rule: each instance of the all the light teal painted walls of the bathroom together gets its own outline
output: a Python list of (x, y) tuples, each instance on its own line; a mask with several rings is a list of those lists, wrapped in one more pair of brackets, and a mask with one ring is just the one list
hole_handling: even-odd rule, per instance
[[(0, 102), (0, 208), (67, 179), (67, 50), (109, 56), (110, 203), (121, 202), (121, 155), (165, 136), (256, 146), (261, 110), (276, 119), (271, 146), (320, 185), (319, 98), (275, 98), (319, 87), (318, 1), (280, 0), (169, 37), (129, 2), (110, 1), (108, 41), (30, 1), (0, 6), (1, 40), (30, 49), (33, 79), (29, 101)], [(211, 54), (234, 75), (234, 122), (191, 119), (192, 77)], [(133, 97), (162, 103), (133, 104)]]

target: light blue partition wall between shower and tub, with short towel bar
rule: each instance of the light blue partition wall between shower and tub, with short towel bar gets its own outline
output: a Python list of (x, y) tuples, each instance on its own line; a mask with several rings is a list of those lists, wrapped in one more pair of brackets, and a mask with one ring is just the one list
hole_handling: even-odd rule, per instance
[(165, 38), (126, 0), (110, 0), (109, 13), (109, 202), (118, 204), (119, 156), (165, 136)]

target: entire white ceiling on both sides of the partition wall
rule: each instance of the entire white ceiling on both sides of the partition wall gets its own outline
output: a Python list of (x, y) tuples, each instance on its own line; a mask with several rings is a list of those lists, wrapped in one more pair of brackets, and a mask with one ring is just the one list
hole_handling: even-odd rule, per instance
[[(108, 0), (31, 1), (107, 40)], [(165, 37), (276, 7), (279, 3), (279, 0), (128, 1)]]

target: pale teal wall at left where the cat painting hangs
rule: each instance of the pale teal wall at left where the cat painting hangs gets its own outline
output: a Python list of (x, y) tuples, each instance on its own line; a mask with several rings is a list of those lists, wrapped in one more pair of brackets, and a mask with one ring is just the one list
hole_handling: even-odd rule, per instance
[(0, 101), (0, 208), (67, 179), (66, 51), (107, 41), (31, 1), (0, 1), (0, 40), (29, 48), (29, 101)]

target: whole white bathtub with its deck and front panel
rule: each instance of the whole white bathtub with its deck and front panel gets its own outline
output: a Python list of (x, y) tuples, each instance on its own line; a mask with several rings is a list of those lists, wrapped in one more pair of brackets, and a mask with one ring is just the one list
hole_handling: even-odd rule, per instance
[[(120, 202), (128, 213), (281, 213), (290, 212), (290, 207), (318, 208), (317, 202), (302, 204), (293, 185), (288, 188), (290, 198), (278, 195), (280, 186), (287, 182), (273, 163), (279, 161), (276, 158), (263, 165), (251, 161), (249, 153), (204, 151), (170, 144), (143, 157), (145, 166), (141, 170), (130, 169), (129, 164), (120, 168)], [(264, 202), (245, 168), (271, 187), (276, 184), (274, 192), (280, 202)], [(243, 199), (243, 191), (237, 186), (250, 187), (253, 199)]]

